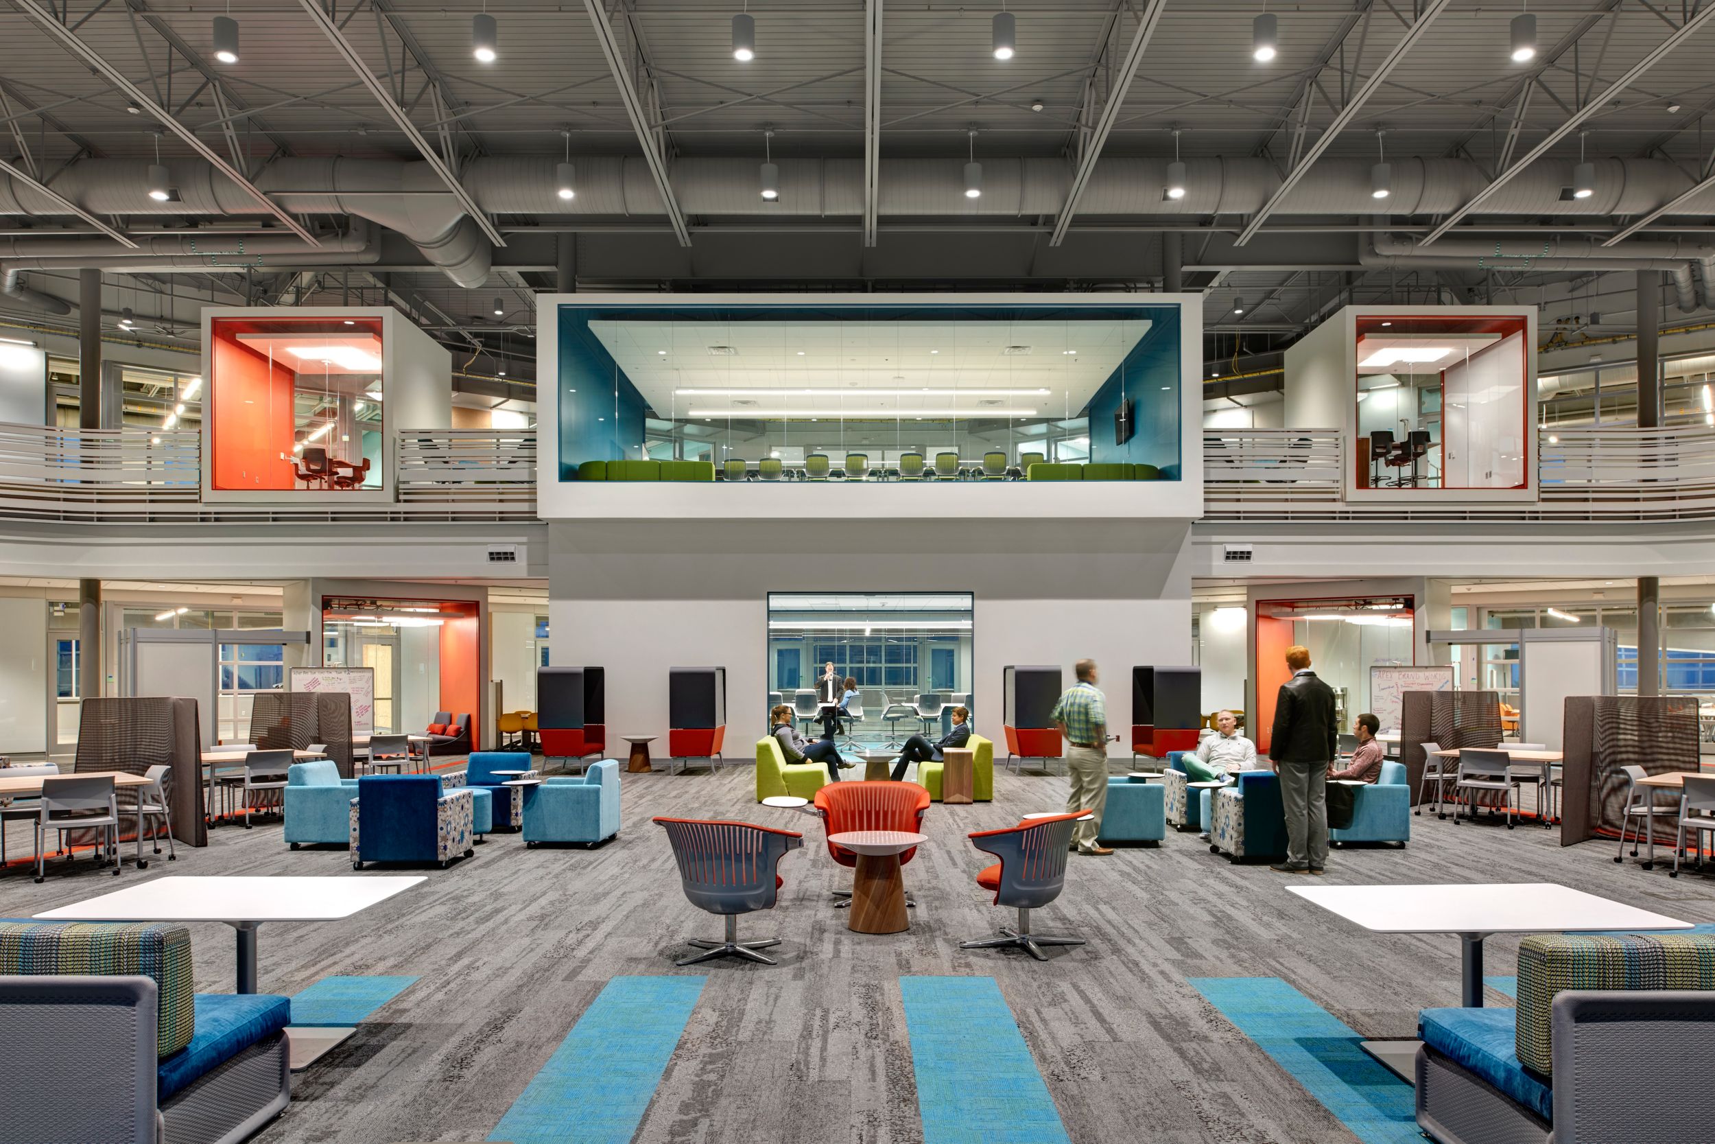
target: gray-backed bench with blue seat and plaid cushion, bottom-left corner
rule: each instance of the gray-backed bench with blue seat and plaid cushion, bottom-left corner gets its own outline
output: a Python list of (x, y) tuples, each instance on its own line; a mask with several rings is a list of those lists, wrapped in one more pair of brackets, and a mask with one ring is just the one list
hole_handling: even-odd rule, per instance
[(292, 1099), (288, 1024), (285, 996), (192, 993), (185, 926), (0, 923), (0, 1043), (27, 1046), (0, 1137), (242, 1141)]

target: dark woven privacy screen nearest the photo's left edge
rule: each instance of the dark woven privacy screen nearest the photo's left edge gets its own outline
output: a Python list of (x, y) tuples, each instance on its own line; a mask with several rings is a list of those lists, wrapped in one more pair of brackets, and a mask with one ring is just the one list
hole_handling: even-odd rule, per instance
[[(166, 765), (166, 799), (173, 811), (173, 837), (187, 846), (208, 846), (202, 822), (202, 732), (197, 701), (170, 696), (87, 698), (77, 719), (74, 772), (118, 770), (141, 775)], [(118, 791), (120, 818), (135, 828), (137, 791)], [(129, 837), (129, 835), (127, 835)], [(87, 839), (74, 837), (81, 846)]]

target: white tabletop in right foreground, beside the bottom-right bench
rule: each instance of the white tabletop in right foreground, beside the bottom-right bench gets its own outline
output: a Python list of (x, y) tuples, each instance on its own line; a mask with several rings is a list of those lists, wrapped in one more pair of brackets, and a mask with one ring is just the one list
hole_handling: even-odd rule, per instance
[(1689, 930), (1554, 882), (1506, 885), (1310, 885), (1293, 894), (1377, 933), (1557, 933), (1578, 930)]

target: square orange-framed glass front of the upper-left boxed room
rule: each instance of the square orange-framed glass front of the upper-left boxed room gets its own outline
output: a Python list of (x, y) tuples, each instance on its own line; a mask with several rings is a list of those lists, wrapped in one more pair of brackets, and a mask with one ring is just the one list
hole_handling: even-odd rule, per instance
[(209, 333), (211, 487), (381, 487), (381, 317), (220, 317)]

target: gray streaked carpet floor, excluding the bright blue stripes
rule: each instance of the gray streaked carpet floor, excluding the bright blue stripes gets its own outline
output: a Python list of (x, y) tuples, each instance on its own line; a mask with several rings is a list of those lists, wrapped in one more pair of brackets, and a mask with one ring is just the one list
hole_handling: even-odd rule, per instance
[[(1195, 834), (1111, 858), (1070, 859), (1062, 899), (1036, 914), (1043, 933), (1082, 947), (1043, 964), (1014, 950), (960, 950), (1012, 923), (974, 883), (991, 859), (966, 832), (1058, 810), (1065, 779), (998, 774), (995, 801), (935, 804), (930, 842), (906, 868), (918, 909), (907, 933), (854, 935), (828, 892), (851, 885), (821, 846), (820, 823), (758, 806), (749, 767), (624, 775), (623, 830), (602, 847), (525, 849), (494, 835), (451, 870), (341, 923), (261, 930), (261, 990), (298, 993), (329, 974), (415, 976), (358, 1033), (295, 1077), (292, 1106), (262, 1144), (484, 1141), (616, 976), (707, 976), (635, 1141), (923, 1141), (902, 976), (993, 978), (1034, 1055), (1065, 1132), (1108, 1141), (1329, 1144), (1355, 1137), (1233, 1027), (1192, 984), (1281, 978), (1367, 1038), (1411, 1036), (1417, 1010), (1456, 1003), (1451, 936), (1362, 931), (1286, 894), (1266, 866), (1235, 866)], [(686, 938), (720, 919), (679, 892), (655, 815), (737, 818), (803, 830), (772, 912), (741, 938), (779, 936), (777, 967), (720, 960), (676, 969)], [(1688, 921), (1715, 921), (1715, 880), (1669, 880), (1614, 863), (1612, 842), (1561, 849), (1559, 832), (1490, 822), (1411, 820), (1406, 849), (1341, 849), (1324, 883), (1561, 882)], [(120, 878), (87, 858), (0, 871), (0, 916), (21, 918), (165, 875), (353, 873), (340, 849), (288, 851), (278, 825), (221, 827), (206, 849)], [(14, 835), (12, 856), (19, 856)], [(1664, 851), (1665, 852), (1665, 851)], [(381, 871), (377, 871), (381, 873)], [(1307, 878), (1303, 882), (1309, 882)], [(192, 926), (201, 991), (233, 986), (233, 935)], [(1489, 943), (1490, 972), (1513, 969), (1516, 940)], [(1509, 1003), (1490, 991), (1490, 1003)], [(619, 1046), (616, 1046), (617, 1051)], [(938, 1060), (945, 1053), (936, 1055)], [(587, 1069), (602, 1069), (592, 1048)], [(945, 1067), (945, 1065), (943, 1065)], [(981, 1074), (972, 1039), (964, 1069)], [(935, 1086), (942, 1086), (938, 1077)], [(930, 1086), (930, 1087), (935, 1087)], [(504, 1139), (504, 1137), (501, 1137)], [(568, 1125), (568, 1141), (576, 1127)]]

